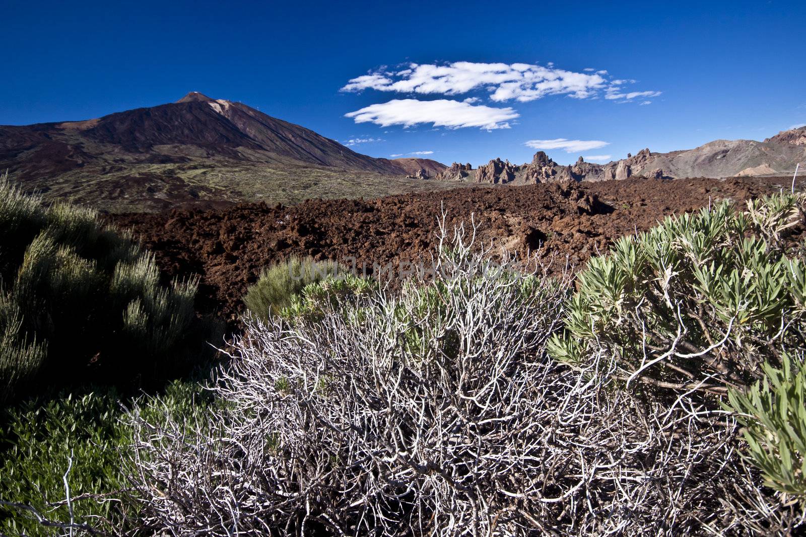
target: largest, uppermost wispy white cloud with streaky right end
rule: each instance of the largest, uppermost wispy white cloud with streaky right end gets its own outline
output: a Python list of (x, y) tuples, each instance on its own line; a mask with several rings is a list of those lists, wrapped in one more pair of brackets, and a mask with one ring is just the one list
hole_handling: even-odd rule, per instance
[[(609, 81), (605, 70), (592, 72), (567, 71), (554, 64), (481, 64), (457, 61), (450, 64), (404, 64), (396, 69), (382, 68), (356, 76), (341, 91), (359, 92), (375, 89), (383, 92), (419, 93), (424, 95), (461, 95), (484, 89), (489, 99), (503, 101), (534, 101), (547, 95), (567, 95), (577, 99), (598, 97), (621, 92), (621, 85), (634, 81)], [(657, 93), (659, 92), (633, 92)], [(625, 93), (627, 95), (627, 93)], [(471, 99), (477, 97), (470, 97)], [(634, 97), (608, 97), (625, 98)], [(468, 103), (468, 104), (472, 104)]]

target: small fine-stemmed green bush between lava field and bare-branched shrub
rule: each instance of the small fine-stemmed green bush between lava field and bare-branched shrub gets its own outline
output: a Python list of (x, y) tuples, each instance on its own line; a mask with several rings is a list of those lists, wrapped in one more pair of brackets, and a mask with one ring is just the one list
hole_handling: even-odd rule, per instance
[(306, 285), (339, 271), (335, 262), (317, 262), (311, 257), (289, 258), (264, 269), (257, 283), (247, 289), (243, 303), (253, 315), (268, 320), (288, 308), (293, 296), (299, 295)]

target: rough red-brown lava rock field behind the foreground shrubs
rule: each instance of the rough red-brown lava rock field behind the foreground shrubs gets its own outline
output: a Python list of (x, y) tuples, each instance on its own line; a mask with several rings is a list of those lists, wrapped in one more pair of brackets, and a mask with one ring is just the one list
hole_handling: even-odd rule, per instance
[[(373, 263), (430, 259), (438, 217), (478, 225), (509, 250), (559, 254), (573, 266), (614, 239), (709, 202), (788, 188), (786, 178), (646, 180), (464, 188), (377, 200), (310, 200), (293, 207), (239, 204), (113, 217), (154, 251), (166, 276), (202, 276), (198, 307), (233, 322), (260, 270), (290, 255)], [(799, 181), (799, 188), (806, 180)]]

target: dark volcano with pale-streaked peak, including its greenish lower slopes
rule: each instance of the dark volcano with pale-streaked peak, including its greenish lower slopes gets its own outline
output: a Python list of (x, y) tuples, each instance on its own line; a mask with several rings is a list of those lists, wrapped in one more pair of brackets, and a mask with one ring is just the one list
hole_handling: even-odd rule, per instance
[(416, 165), (433, 176), (441, 164), (401, 160), (361, 155), (313, 130), (198, 92), (85, 121), (0, 126), (0, 170), (13, 180), (51, 198), (71, 196), (117, 212), (450, 186), (405, 178)]

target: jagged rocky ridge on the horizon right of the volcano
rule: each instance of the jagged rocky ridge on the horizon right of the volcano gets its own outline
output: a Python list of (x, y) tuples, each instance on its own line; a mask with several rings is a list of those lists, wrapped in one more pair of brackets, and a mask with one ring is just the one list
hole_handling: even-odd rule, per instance
[(438, 180), (488, 184), (534, 184), (555, 181), (622, 180), (633, 176), (656, 179), (678, 177), (733, 177), (791, 175), (797, 163), (806, 163), (806, 126), (783, 130), (763, 142), (715, 140), (695, 149), (653, 153), (648, 148), (607, 164), (579, 160), (560, 166), (543, 151), (531, 163), (512, 164), (501, 159), (472, 169), (453, 163)]

